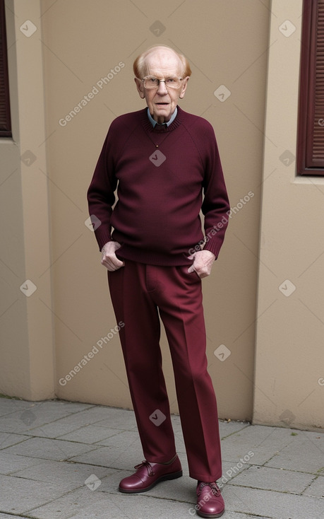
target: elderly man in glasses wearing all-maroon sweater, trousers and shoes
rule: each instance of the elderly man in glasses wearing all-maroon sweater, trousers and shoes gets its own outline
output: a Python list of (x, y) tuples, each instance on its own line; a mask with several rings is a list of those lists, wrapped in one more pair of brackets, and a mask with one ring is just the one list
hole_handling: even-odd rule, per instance
[(201, 279), (220, 252), (229, 202), (211, 125), (178, 105), (191, 75), (186, 58), (158, 45), (143, 52), (133, 69), (148, 107), (114, 119), (88, 189), (114, 313), (124, 323), (119, 334), (145, 456), (119, 491), (145, 492), (182, 475), (162, 372), (162, 321), (189, 474), (198, 480), (196, 511), (217, 518), (224, 512), (216, 484), (220, 436)]

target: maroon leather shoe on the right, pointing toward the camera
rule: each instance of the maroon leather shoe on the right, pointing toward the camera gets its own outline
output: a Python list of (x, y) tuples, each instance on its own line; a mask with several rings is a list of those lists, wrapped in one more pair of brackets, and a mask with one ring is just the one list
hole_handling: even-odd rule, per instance
[(198, 482), (195, 508), (200, 517), (215, 518), (223, 515), (224, 499), (216, 483)]

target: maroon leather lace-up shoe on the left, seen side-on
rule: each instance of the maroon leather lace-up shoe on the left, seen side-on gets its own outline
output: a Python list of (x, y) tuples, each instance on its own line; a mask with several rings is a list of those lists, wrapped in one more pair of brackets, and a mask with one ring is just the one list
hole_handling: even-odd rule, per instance
[(182, 476), (181, 463), (177, 455), (174, 456), (172, 462), (168, 465), (144, 460), (139, 465), (136, 465), (134, 469), (136, 469), (135, 474), (121, 479), (119, 492), (124, 492), (125, 494), (146, 492), (160, 481), (164, 481), (164, 479), (176, 479)]

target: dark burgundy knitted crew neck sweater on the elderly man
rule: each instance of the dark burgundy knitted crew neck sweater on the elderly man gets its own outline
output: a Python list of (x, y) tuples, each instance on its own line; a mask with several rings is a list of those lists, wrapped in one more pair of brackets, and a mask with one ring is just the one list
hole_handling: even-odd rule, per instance
[(100, 250), (116, 241), (121, 260), (174, 266), (191, 264), (200, 247), (220, 252), (229, 200), (215, 133), (177, 109), (167, 127), (153, 128), (147, 108), (120, 115), (104, 140), (89, 212)]

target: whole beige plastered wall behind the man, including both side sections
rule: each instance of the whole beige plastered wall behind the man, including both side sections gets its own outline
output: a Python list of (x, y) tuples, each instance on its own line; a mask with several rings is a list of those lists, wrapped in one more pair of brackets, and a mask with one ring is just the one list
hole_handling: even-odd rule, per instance
[[(16, 96), (12, 97), (16, 146), (9, 141), (1, 142), (0, 150), (6, 164), (4, 178), (14, 168), (17, 174), (0, 187), (4, 215), (11, 214), (13, 203), (16, 206), (10, 218), (11, 232), (8, 228), (2, 231), (6, 249), (1, 253), (1, 261), (15, 273), (0, 262), (5, 296), (1, 347), (6, 360), (0, 367), (0, 391), (31, 400), (56, 395), (67, 400), (131, 407), (119, 339), (110, 332), (116, 322), (109, 301), (107, 274), (100, 265), (95, 237), (85, 226), (88, 218), (85, 194), (112, 119), (144, 106), (133, 84), (133, 59), (149, 45), (162, 42), (184, 52), (191, 62), (193, 75), (181, 107), (213, 124), (235, 213), (212, 276), (203, 281), (209, 371), (220, 416), (254, 417), (256, 422), (286, 425), (287, 420), (278, 417), (287, 408), (296, 415), (296, 426), (313, 426), (313, 414), (320, 409), (317, 399), (323, 394), (323, 387), (313, 387), (308, 399), (313, 402), (310, 415), (308, 406), (300, 403), (306, 390), (304, 378), (303, 384), (300, 380), (306, 361), (311, 392), (312, 380), (320, 378), (318, 356), (308, 356), (301, 345), (298, 350), (303, 355), (296, 356), (293, 348), (299, 344), (298, 340), (301, 342), (303, 334), (306, 340), (311, 319), (315, 321), (314, 339), (312, 346), (308, 339), (308, 347), (316, 348), (322, 325), (310, 313), (308, 326), (304, 328), (307, 310), (305, 306), (301, 310), (302, 303), (296, 298), (301, 292), (296, 290), (285, 298), (277, 288), (284, 279), (296, 281), (296, 276), (302, 273), (301, 267), (309, 266), (320, 249), (318, 231), (306, 238), (306, 247), (301, 243), (300, 231), (309, 225), (298, 212), (302, 204), (309, 218), (317, 215), (320, 182), (316, 186), (309, 180), (296, 182), (294, 165), (288, 168), (278, 159), (281, 150), (290, 149), (294, 153), (296, 147), (300, 6), (298, 9), (296, 2), (290, 2), (289, 12), (285, 12), (277, 3), (268, 9), (265, 0), (187, 1), (178, 7), (171, 0), (163, 5), (148, 0), (135, 3), (96, 0), (91, 3), (92, 8), (85, 0), (29, 0), (28, 3), (15, 0), (6, 4), (16, 15), (14, 20), (11, 16), (8, 31), (8, 38), (12, 42), (17, 40), (9, 50), (11, 89), (16, 88)], [(277, 26), (282, 16), (284, 21), (292, 18), (292, 14), (297, 30), (286, 38)], [(28, 20), (37, 27), (30, 37), (20, 30)], [(270, 43), (278, 41), (270, 47), (264, 136), (269, 21), (272, 21)], [(154, 33), (155, 28), (160, 28), (160, 35)], [(287, 52), (287, 59), (282, 59), (282, 52)], [(97, 83), (121, 63), (124, 64), (121, 70), (100, 88)], [(287, 86), (285, 95), (282, 95), (282, 74)], [(231, 93), (223, 102), (214, 94), (221, 85)], [(71, 120), (65, 119), (65, 124), (66, 115), (92, 91), (93, 98), (88, 97), (82, 110)], [(286, 114), (284, 124), (282, 113)], [(28, 149), (37, 160), (26, 166), (19, 158)], [(279, 209), (277, 216), (275, 208)], [(288, 247), (284, 246), (285, 239), (289, 241)], [(298, 262), (296, 255), (300, 256)], [(315, 313), (316, 307), (320, 313), (320, 298), (308, 290), (311, 282), (316, 284), (319, 263), (320, 260), (300, 277), (298, 285), (301, 290), (304, 283), (308, 294), (304, 293), (304, 304)], [(316, 268), (318, 272), (313, 270)], [(37, 286), (30, 298), (19, 290), (25, 279), (31, 279)], [(275, 298), (276, 302), (267, 310)], [(256, 327), (258, 345), (254, 365)], [(64, 384), (66, 375), (109, 332), (109, 342)], [(222, 344), (230, 355), (221, 361), (214, 351)], [(218, 351), (222, 352), (222, 348)], [(170, 402), (176, 411), (165, 337), (162, 349)]]

